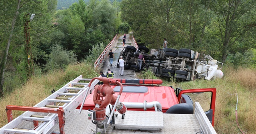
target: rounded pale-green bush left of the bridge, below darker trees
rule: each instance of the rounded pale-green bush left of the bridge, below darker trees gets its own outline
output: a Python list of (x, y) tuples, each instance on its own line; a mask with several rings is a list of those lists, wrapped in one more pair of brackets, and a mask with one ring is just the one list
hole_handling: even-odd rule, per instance
[(51, 54), (48, 55), (48, 60), (45, 70), (65, 69), (68, 64), (76, 62), (76, 55), (73, 51), (67, 51), (60, 45), (51, 48)]

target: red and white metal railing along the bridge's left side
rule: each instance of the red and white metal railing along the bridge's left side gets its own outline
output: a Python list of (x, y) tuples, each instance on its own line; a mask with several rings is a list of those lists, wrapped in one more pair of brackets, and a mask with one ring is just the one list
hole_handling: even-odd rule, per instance
[[(113, 47), (114, 42), (116, 41), (116, 37), (117, 37), (117, 33), (116, 33), (115, 37), (112, 39), (112, 41), (104, 49), (104, 51), (102, 51), (102, 53), (100, 54), (98, 59), (94, 62), (94, 69), (97, 69), (99, 67), (99, 65), (106, 60), (105, 56), (108, 54), (108, 51)], [(102, 60), (103, 60), (103, 62), (102, 62)]]

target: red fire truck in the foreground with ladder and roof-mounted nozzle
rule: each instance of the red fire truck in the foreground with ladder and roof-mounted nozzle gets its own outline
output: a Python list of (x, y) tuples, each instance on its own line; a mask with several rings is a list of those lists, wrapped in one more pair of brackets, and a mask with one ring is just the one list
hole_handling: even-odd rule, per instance
[[(0, 134), (216, 134), (215, 88), (161, 84), (80, 75), (33, 107), (6, 106)], [(13, 118), (13, 110), (25, 112)]]

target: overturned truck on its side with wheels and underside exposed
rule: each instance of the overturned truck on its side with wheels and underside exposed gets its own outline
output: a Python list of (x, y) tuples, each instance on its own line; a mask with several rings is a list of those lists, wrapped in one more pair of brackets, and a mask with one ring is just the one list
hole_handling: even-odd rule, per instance
[(154, 75), (157, 76), (185, 81), (223, 77), (223, 72), (220, 70), (223, 63), (213, 59), (210, 55), (204, 55), (204, 58), (200, 59), (200, 53), (185, 48), (149, 50), (145, 46), (139, 46), (136, 49), (134, 46), (128, 45), (119, 55), (119, 59), (122, 56), (125, 61), (124, 69), (139, 71), (138, 56), (140, 54), (145, 59), (145, 63), (142, 63), (142, 70), (151, 68)]

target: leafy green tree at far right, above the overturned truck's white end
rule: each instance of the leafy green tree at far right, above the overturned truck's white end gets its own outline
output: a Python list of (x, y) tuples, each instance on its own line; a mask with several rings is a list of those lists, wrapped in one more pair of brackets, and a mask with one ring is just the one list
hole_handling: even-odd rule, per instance
[(223, 62), (226, 61), (228, 53), (238, 47), (237, 41), (246, 38), (250, 30), (256, 27), (255, 9), (255, 0), (217, 0), (214, 4), (219, 37), (222, 41)]

